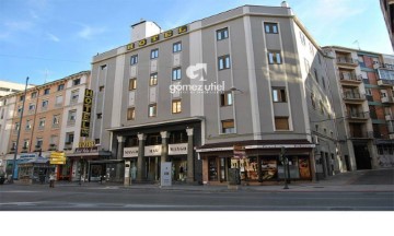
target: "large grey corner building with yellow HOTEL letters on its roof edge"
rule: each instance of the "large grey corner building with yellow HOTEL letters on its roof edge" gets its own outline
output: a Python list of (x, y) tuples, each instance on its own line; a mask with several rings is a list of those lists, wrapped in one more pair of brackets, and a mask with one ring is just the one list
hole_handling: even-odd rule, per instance
[(137, 23), (130, 44), (93, 58), (91, 139), (125, 162), (109, 174), (126, 181), (159, 180), (163, 162), (175, 180), (227, 181), (237, 167), (277, 181), (281, 148), (291, 179), (332, 175), (344, 164), (324, 57), (286, 2), (169, 31)]

